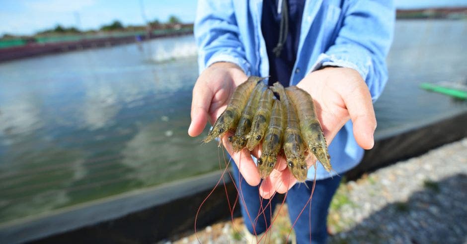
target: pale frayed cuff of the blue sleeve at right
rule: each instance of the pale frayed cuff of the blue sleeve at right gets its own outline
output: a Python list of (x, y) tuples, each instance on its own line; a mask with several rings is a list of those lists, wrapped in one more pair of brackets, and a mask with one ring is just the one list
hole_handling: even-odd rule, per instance
[[(371, 63), (371, 61), (370, 61)], [(368, 67), (366, 65), (362, 65), (361, 67), (354, 62), (348, 61), (344, 57), (337, 57), (336, 55), (328, 55), (328, 54), (320, 54), (316, 62), (311, 66), (310, 72), (320, 69), (324, 66), (337, 66), (337, 67), (344, 67), (344, 68), (353, 68), (357, 70), (360, 75), (362, 76), (363, 80), (366, 80), (368, 75)]]

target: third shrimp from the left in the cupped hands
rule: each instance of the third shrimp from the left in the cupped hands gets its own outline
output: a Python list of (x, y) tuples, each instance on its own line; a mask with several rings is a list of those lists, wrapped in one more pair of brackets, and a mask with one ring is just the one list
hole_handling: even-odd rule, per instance
[(253, 123), (251, 125), (251, 131), (248, 133), (246, 138), (246, 147), (248, 150), (253, 150), (253, 148), (258, 145), (258, 143), (263, 139), (264, 133), (268, 128), (269, 117), (271, 116), (272, 103), (274, 102), (274, 94), (271, 90), (265, 89), (261, 98), (259, 99), (258, 109), (253, 118)]

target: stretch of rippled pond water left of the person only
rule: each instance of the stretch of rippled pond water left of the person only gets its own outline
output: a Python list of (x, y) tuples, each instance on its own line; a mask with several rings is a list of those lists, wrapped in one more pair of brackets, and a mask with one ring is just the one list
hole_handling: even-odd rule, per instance
[(216, 145), (186, 132), (190, 45), (167, 38), (0, 64), (0, 222), (216, 169)]

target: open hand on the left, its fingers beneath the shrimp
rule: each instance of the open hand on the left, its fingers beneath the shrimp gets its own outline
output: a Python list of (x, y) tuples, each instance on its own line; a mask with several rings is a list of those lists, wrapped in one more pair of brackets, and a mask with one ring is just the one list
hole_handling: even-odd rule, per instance
[[(213, 124), (226, 109), (235, 88), (247, 78), (238, 66), (229, 62), (217, 62), (206, 68), (193, 88), (191, 124), (188, 134), (198, 136), (203, 132), (208, 120)], [(246, 183), (259, 184), (258, 170), (250, 152), (244, 148), (234, 153), (232, 143), (228, 141), (230, 135), (232, 135), (231, 132), (228, 132), (222, 137), (225, 148), (238, 166)]]

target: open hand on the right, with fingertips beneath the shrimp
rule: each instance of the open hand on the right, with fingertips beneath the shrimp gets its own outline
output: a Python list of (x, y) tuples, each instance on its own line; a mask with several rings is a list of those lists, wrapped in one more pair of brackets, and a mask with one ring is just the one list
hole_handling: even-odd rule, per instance
[[(357, 143), (364, 149), (373, 147), (375, 112), (368, 86), (356, 70), (326, 67), (311, 72), (297, 86), (311, 94), (328, 145), (340, 128), (351, 119)], [(309, 167), (314, 161), (314, 157), (308, 157)], [(286, 161), (279, 158), (271, 175), (261, 183), (260, 194), (269, 198), (276, 191), (285, 193), (295, 183), (297, 180), (291, 175)]]

